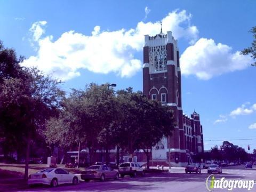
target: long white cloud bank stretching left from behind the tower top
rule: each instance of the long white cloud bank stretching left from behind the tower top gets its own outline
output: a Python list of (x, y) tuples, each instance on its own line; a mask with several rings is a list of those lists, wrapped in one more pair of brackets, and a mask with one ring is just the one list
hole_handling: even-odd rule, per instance
[[(175, 38), (186, 37), (193, 42), (197, 39), (196, 26), (190, 26), (191, 14), (185, 10), (175, 10), (162, 19), (163, 32), (172, 31)], [(144, 35), (160, 32), (160, 22), (140, 21), (134, 29), (101, 31), (95, 26), (92, 35), (75, 31), (63, 33), (56, 41), (53, 36), (42, 37), (46, 21), (33, 23), (29, 29), (34, 43), (38, 44), (37, 55), (23, 61), (27, 67), (36, 66), (46, 74), (68, 80), (79, 76), (79, 69), (94, 73), (114, 72), (121, 77), (130, 77), (141, 70), (141, 61), (134, 53), (142, 51)]]

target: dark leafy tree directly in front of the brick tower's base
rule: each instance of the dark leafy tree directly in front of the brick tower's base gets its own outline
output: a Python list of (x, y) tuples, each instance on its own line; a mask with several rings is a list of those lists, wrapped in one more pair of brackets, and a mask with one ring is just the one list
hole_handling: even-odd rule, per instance
[(132, 88), (117, 92), (121, 102), (121, 121), (117, 143), (130, 155), (142, 149), (147, 156), (147, 167), (152, 147), (165, 136), (171, 135), (174, 127), (173, 111), (161, 103), (147, 99), (142, 92), (132, 92)]

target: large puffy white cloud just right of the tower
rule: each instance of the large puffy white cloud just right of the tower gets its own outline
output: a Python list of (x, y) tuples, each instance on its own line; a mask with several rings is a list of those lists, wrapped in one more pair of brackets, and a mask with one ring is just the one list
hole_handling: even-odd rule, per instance
[(245, 69), (251, 62), (249, 55), (232, 52), (232, 47), (216, 44), (213, 39), (206, 38), (200, 38), (194, 45), (189, 46), (180, 58), (183, 75), (196, 75), (203, 80)]

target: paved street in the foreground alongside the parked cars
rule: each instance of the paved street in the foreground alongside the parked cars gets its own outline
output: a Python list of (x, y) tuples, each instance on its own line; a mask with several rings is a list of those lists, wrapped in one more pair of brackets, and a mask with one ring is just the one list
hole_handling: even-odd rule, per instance
[[(150, 174), (146, 177), (109, 180), (106, 182), (91, 181), (81, 182), (76, 186), (65, 185), (57, 188), (33, 187), (26, 191), (207, 191), (205, 187), (206, 178), (209, 176), (207, 170), (202, 170), (201, 174), (185, 174), (183, 169), (173, 169), (171, 173)], [(243, 166), (225, 167), (222, 174), (216, 174), (217, 179), (225, 177), (228, 180), (256, 180), (256, 170), (244, 169)], [(227, 189), (214, 189), (213, 191), (228, 191)], [(247, 189), (235, 189), (232, 191), (247, 191)], [(251, 191), (256, 191), (255, 187)]]

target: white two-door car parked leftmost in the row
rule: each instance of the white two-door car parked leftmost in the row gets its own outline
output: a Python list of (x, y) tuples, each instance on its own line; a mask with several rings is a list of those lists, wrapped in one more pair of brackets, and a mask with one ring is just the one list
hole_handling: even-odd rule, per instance
[(73, 183), (76, 185), (79, 182), (77, 175), (71, 174), (63, 169), (45, 169), (37, 173), (30, 174), (28, 178), (28, 185), (45, 184), (57, 187), (63, 183)]

